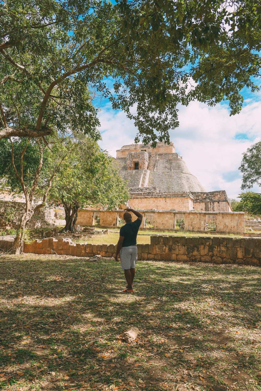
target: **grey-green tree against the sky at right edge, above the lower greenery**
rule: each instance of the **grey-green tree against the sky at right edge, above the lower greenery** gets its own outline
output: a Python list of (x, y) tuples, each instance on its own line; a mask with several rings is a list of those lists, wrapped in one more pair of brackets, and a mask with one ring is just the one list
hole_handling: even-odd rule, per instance
[(239, 170), (243, 174), (241, 189), (250, 189), (253, 185), (261, 186), (261, 141), (252, 145), (243, 153)]

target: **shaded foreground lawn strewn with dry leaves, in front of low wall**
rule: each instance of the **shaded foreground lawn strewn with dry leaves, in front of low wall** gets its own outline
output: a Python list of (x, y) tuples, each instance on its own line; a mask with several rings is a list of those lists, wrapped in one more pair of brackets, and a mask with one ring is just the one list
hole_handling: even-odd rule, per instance
[[(0, 256), (0, 388), (260, 390), (260, 268)], [(119, 334), (136, 326), (138, 339)]]

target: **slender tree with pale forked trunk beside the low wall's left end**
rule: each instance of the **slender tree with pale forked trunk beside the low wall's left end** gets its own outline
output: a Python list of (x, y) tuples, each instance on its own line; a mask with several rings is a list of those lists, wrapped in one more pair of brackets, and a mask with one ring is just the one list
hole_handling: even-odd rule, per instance
[[(25, 196), (24, 212), (20, 217), (19, 228), (14, 240), (14, 253), (20, 254), (26, 236), (26, 227), (34, 213), (46, 205), (47, 195), (54, 176), (59, 171), (63, 159), (67, 156), (67, 138), (54, 134), (47, 136), (48, 142), (40, 138), (16, 138), (0, 140), (0, 178), (2, 185), (12, 192)], [(52, 156), (52, 158), (50, 158)], [(45, 161), (45, 178), (41, 181), (41, 201), (36, 202), (38, 181)], [(38, 197), (38, 201), (39, 201)]]

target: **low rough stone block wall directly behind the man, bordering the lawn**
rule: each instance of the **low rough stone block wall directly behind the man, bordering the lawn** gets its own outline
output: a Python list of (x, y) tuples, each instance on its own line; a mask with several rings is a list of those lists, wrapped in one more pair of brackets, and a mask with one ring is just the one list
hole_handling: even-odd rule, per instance
[[(216, 264), (261, 265), (261, 238), (151, 236), (151, 244), (138, 244), (138, 259)], [(113, 257), (114, 244), (73, 243), (70, 239), (43, 239), (25, 244), (24, 253)]]

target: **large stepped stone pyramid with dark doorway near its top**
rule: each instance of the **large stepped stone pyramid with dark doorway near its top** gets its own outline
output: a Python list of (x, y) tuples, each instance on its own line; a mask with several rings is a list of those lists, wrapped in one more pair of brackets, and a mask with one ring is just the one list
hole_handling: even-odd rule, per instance
[(124, 145), (116, 161), (134, 209), (231, 212), (225, 190), (206, 192), (172, 142)]

